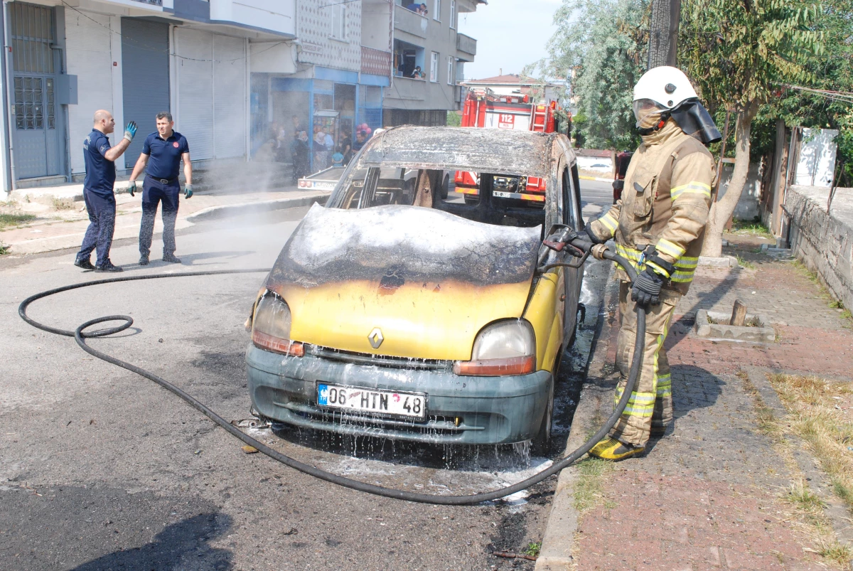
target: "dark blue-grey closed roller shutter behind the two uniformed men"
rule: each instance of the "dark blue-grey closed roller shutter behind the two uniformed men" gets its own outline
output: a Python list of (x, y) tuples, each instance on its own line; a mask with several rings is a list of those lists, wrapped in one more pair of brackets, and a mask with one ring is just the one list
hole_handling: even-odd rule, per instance
[(157, 114), (169, 110), (169, 25), (122, 18), (121, 61), (125, 122), (139, 125), (124, 155), (125, 166), (132, 168), (145, 137), (157, 131)]

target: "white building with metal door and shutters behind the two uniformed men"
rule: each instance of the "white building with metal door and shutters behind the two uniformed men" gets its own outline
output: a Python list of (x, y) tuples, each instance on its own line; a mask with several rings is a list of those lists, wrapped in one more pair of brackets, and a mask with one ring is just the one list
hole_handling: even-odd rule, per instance
[[(170, 111), (193, 160), (251, 153), (251, 73), (296, 71), (296, 0), (30, 0), (3, 3), (4, 191), (84, 176), (92, 114), (140, 134)], [(116, 166), (130, 169), (144, 137)]]

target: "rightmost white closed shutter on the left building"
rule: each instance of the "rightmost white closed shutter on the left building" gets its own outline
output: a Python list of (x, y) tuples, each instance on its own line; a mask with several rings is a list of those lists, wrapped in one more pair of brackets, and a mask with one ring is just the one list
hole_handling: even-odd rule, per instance
[(213, 36), (213, 104), (216, 157), (246, 154), (246, 40)]

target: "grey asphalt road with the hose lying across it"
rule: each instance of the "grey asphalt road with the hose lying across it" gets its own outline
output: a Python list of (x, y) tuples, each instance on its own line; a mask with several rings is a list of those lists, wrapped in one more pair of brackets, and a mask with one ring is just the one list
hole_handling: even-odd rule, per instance
[[(582, 189), (590, 201), (603, 192)], [(135, 243), (116, 244), (111, 257), (125, 265), (125, 275), (268, 267), (304, 213), (292, 209), (180, 232), (179, 266), (137, 266)], [(72, 262), (70, 252), (0, 259), (0, 568), (532, 568), (491, 551), (523, 551), (541, 540), (555, 478), (505, 502), (438, 507), (352, 492), (246, 454), (241, 443), (154, 383), (18, 318), (17, 306), (29, 294), (102, 277)], [(592, 306), (605, 265), (589, 265), (587, 274), (584, 301)], [(263, 277), (96, 286), (39, 301), (31, 314), (66, 329), (130, 314), (133, 329), (91, 344), (239, 421), (250, 418), (242, 323)], [(573, 388), (595, 330), (591, 317), (566, 354), (551, 457), (563, 452)], [(492, 489), (550, 462), (519, 447), (460, 451), (299, 431), (252, 434), (324, 469), (419, 491)]]

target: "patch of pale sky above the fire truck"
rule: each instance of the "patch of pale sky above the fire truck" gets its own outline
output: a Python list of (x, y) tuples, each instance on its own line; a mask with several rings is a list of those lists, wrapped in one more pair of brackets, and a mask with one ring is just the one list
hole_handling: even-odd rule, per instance
[(561, 0), (488, 0), (476, 12), (459, 15), (459, 32), (477, 40), (477, 55), (465, 64), (465, 79), (520, 73), (546, 55), (554, 35), (554, 11)]

